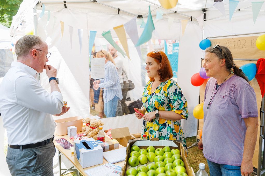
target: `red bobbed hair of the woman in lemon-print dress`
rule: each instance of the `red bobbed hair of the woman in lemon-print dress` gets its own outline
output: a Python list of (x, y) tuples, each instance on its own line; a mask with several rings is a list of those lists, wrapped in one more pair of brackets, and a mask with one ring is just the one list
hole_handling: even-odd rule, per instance
[[(169, 60), (163, 51), (152, 51), (148, 53), (147, 56), (154, 58), (154, 61), (156, 61), (157, 64), (161, 64), (161, 69), (157, 70), (158, 75), (160, 76), (160, 81), (168, 80), (173, 77)], [(151, 81), (154, 81), (154, 78), (149, 78)]]

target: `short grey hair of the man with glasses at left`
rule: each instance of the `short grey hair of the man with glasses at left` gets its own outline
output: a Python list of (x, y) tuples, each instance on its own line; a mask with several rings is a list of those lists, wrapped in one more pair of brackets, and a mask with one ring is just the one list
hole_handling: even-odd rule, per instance
[(16, 56), (17, 58), (26, 56), (32, 49), (40, 49), (41, 46), (43, 46), (43, 40), (41, 37), (36, 35), (25, 35), (16, 42)]

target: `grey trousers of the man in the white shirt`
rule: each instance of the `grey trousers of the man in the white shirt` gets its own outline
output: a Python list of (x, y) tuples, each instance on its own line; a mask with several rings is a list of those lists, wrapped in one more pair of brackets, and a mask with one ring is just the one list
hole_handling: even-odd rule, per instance
[(52, 162), (55, 155), (53, 142), (30, 149), (12, 149), (8, 146), (6, 162), (14, 175), (53, 175)]

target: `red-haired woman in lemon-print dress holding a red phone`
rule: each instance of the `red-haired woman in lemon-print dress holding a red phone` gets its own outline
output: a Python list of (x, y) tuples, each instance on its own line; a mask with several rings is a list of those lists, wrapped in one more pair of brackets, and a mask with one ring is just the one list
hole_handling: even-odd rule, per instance
[[(187, 145), (180, 125), (181, 119), (188, 118), (187, 101), (178, 84), (171, 79), (173, 72), (163, 51), (152, 51), (146, 58), (147, 75), (141, 109), (134, 108), (138, 119), (143, 118), (142, 136), (147, 139), (181, 140), (187, 157)], [(141, 115), (142, 114), (142, 115)]]

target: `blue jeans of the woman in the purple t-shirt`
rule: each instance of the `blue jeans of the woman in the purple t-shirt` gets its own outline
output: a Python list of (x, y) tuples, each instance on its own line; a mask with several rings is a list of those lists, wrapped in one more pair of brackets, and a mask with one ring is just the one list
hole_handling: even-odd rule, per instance
[(240, 166), (217, 164), (207, 160), (211, 176), (241, 176)]

